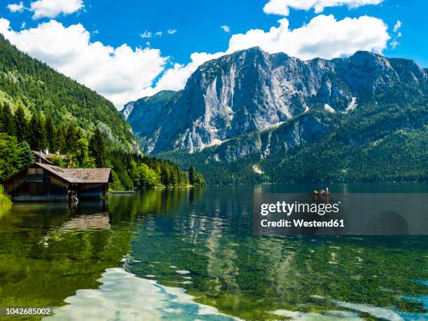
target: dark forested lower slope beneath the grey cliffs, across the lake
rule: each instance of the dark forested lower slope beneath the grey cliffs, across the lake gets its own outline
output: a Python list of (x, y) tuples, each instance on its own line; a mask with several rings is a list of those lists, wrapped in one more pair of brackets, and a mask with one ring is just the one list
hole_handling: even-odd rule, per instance
[(157, 156), (195, 164), (211, 184), (427, 181), (427, 106), (421, 97), (350, 114), (320, 108), (201, 152)]

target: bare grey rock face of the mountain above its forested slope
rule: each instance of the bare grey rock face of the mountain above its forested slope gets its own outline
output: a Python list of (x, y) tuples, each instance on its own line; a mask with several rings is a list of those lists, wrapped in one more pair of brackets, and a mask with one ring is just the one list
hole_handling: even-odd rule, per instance
[(183, 91), (131, 102), (122, 115), (145, 152), (196, 152), (313, 108), (349, 113), (374, 101), (417, 97), (426, 87), (426, 71), (411, 60), (359, 51), (302, 61), (250, 48), (206, 62)]

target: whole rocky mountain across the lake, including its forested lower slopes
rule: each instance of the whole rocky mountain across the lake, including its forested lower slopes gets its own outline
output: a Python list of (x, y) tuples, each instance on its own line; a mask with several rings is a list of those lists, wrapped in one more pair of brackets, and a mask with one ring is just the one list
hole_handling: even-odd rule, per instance
[(145, 152), (194, 164), (212, 184), (425, 181), (427, 106), (427, 70), (411, 60), (251, 48), (122, 115)]

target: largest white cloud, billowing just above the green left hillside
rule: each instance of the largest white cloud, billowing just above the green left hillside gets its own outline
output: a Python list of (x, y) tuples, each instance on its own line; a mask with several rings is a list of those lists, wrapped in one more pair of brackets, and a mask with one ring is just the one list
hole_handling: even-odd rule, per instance
[(0, 18), (0, 32), (20, 50), (57, 71), (87, 85), (122, 107), (127, 101), (152, 92), (152, 83), (164, 70), (168, 57), (157, 49), (117, 48), (91, 42), (82, 24), (64, 27), (55, 20), (14, 31)]

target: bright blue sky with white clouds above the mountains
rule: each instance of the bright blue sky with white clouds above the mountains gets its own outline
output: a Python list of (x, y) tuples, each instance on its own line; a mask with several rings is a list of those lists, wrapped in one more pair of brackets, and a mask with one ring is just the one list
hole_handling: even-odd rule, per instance
[(0, 33), (120, 110), (256, 45), (300, 59), (369, 50), (428, 67), (427, 13), (425, 0), (0, 0)]

